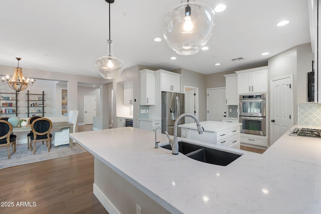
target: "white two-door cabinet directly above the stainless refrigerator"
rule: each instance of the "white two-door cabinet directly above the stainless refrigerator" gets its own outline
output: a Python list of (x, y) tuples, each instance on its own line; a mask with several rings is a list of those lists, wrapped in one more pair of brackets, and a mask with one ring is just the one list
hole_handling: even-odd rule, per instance
[(161, 72), (162, 91), (181, 93), (181, 75), (164, 70)]

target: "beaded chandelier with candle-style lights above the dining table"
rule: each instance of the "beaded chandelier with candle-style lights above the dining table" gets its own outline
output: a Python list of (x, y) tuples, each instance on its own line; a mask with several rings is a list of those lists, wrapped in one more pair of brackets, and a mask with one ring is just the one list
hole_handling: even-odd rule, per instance
[(15, 69), (14, 75), (10, 78), (10, 76), (6, 76), (2, 78), (3, 84), (9, 85), (9, 87), (13, 90), (16, 90), (18, 92), (25, 90), (28, 85), (33, 85), (35, 83), (35, 79), (29, 79), (25, 78), (22, 74), (22, 69), (19, 68), (19, 61), (21, 58), (16, 58), (18, 60), (18, 67)]

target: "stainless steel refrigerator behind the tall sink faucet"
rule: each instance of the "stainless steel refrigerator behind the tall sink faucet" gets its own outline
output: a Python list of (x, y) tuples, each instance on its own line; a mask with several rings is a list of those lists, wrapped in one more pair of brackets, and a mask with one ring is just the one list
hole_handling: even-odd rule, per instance
[[(178, 116), (185, 112), (185, 94), (174, 92), (162, 92), (162, 130), (174, 135), (174, 123)], [(179, 124), (185, 123), (185, 118)], [(181, 128), (178, 129), (181, 136)]]

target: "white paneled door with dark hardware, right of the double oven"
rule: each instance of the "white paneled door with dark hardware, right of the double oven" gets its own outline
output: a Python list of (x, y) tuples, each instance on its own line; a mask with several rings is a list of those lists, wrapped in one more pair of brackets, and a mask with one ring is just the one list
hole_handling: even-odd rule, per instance
[(270, 146), (293, 125), (293, 76), (271, 79)]

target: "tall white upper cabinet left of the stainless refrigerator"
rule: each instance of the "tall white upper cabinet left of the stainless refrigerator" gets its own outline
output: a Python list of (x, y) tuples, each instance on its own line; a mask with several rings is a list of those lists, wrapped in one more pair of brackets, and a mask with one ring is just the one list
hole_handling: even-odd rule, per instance
[(155, 73), (151, 70), (140, 72), (140, 105), (155, 105)]

